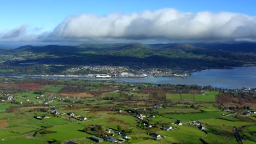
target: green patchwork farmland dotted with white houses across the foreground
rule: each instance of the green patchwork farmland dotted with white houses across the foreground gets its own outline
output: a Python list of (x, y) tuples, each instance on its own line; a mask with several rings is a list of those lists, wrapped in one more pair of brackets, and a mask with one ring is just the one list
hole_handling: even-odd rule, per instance
[[(234, 127), (245, 143), (255, 141), (255, 114), (243, 115), (254, 104), (224, 105), (217, 102), (219, 91), (177, 93), (169, 87), (9, 79), (9, 83), (0, 82), (0, 143), (94, 143), (87, 137), (123, 138), (115, 131), (131, 137), (125, 143), (237, 143)], [(172, 129), (165, 130), (166, 125)], [(109, 129), (112, 132), (106, 132)], [(162, 139), (154, 140), (151, 133)]]

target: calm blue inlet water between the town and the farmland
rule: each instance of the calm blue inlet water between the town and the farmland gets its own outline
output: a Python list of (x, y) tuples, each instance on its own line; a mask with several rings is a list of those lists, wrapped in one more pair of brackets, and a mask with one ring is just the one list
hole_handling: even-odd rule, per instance
[[(187, 84), (199, 86), (212, 86), (222, 88), (256, 88), (256, 66), (237, 67), (234, 69), (210, 69), (193, 73), (192, 76), (183, 79), (181, 77), (145, 77), (145, 78), (110, 78), (110, 79), (86, 79), (94, 81), (119, 81), (129, 83), (161, 83), (161, 84)], [(73, 79), (71, 77), (51, 77), (51, 79)]]

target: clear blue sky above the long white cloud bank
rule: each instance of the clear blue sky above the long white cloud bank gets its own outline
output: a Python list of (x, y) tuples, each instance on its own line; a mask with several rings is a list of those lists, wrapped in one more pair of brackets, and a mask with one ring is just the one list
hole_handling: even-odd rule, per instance
[[(200, 13), (201, 11), (210, 11), (211, 13), (220, 13), (222, 11), (230, 13), (241, 13), (248, 16), (256, 16), (255, 10), (256, 1), (247, 0), (162, 0), (162, 1), (133, 1), (133, 0), (119, 0), (119, 1), (36, 1), (36, 0), (2, 0), (0, 9), (0, 34), (6, 35), (12, 29), (22, 27), (26, 33), (39, 34), (47, 32), (48, 34), (71, 16), (79, 15), (97, 15), (98, 18), (107, 16), (113, 13), (121, 13), (121, 15), (131, 15), (133, 13), (142, 13), (145, 10), (157, 11), (164, 8), (174, 8), (184, 13)], [(165, 14), (165, 12), (163, 12)], [(82, 18), (81, 18), (82, 19)], [(83, 19), (84, 20), (84, 19)], [(88, 19), (86, 19), (88, 20)], [(254, 23), (253, 23), (254, 25)], [(83, 25), (81, 26), (83, 28)], [(16, 29), (17, 30), (17, 29)], [(16, 32), (16, 31), (15, 31)], [(41, 34), (42, 35), (42, 34)], [(50, 34), (54, 35), (54, 34)], [(56, 34), (55, 34), (56, 35)], [(81, 34), (80, 34), (81, 35)], [(80, 35), (75, 35), (80, 38)], [(93, 35), (93, 34), (92, 34)], [(130, 34), (131, 35), (131, 34)], [(121, 35), (121, 39), (127, 39), (130, 35)], [(143, 35), (137, 34), (137, 35)], [(155, 34), (161, 35), (161, 34)], [(247, 34), (250, 35), (250, 34)], [(62, 35), (63, 36), (63, 35)], [(74, 36), (74, 35), (73, 35)], [(72, 36), (72, 37), (73, 37)], [(91, 37), (91, 35), (89, 35)], [(89, 37), (88, 36), (88, 37)], [(113, 35), (112, 35), (113, 36)], [(1, 37), (1, 35), (0, 35)], [(41, 36), (40, 36), (41, 37)], [(46, 36), (45, 36), (46, 37)], [(67, 37), (67, 36), (65, 36)], [(84, 36), (83, 36), (84, 37)], [(136, 36), (138, 37), (138, 36)], [(143, 39), (147, 39), (143, 35)], [(207, 36), (210, 37), (210, 36)], [(254, 37), (254, 36), (253, 36)], [(87, 38), (87, 37), (86, 37)], [(98, 38), (98, 36), (97, 36)], [(113, 36), (115, 38), (115, 35)], [(167, 37), (173, 39), (172, 37)], [(228, 37), (231, 38), (231, 37)], [(240, 37), (239, 37), (240, 38)], [(241, 37), (243, 39), (247, 37)], [(98, 38), (99, 39), (99, 38)], [(102, 39), (102, 36), (101, 36)], [(149, 39), (155, 39), (150, 36)], [(160, 39), (165, 39), (165, 35), (161, 35)], [(176, 38), (174, 38), (176, 39)], [(178, 37), (177, 39), (181, 39)], [(185, 38), (188, 39), (188, 38)], [(215, 37), (213, 38), (215, 39)], [(8, 39), (5, 39), (8, 40)], [(20, 39), (19, 39), (20, 40)], [(68, 40), (68, 39), (66, 39)]]

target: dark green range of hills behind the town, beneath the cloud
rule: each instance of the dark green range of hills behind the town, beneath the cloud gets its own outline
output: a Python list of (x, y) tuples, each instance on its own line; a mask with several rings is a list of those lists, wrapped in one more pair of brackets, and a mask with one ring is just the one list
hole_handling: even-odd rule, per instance
[[(249, 44), (82, 44), (77, 46), (21, 46), (3, 53), (34, 56), (12, 64), (108, 64), (130, 67), (169, 67), (183, 70), (229, 68), (255, 64), (254, 43)], [(225, 47), (226, 46), (226, 47)], [(234, 46), (234, 49), (231, 47)], [(246, 47), (243, 47), (246, 46)], [(250, 48), (251, 47), (251, 48)], [(244, 51), (245, 50), (245, 51)]]

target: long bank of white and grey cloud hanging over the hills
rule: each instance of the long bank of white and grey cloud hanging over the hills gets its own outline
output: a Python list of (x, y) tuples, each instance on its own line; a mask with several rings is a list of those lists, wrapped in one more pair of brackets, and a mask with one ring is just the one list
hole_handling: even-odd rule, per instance
[(63, 20), (52, 32), (28, 34), (26, 26), (0, 34), (2, 40), (109, 41), (158, 40), (207, 41), (256, 39), (256, 17), (220, 12), (187, 13), (159, 9), (106, 16), (81, 14)]

